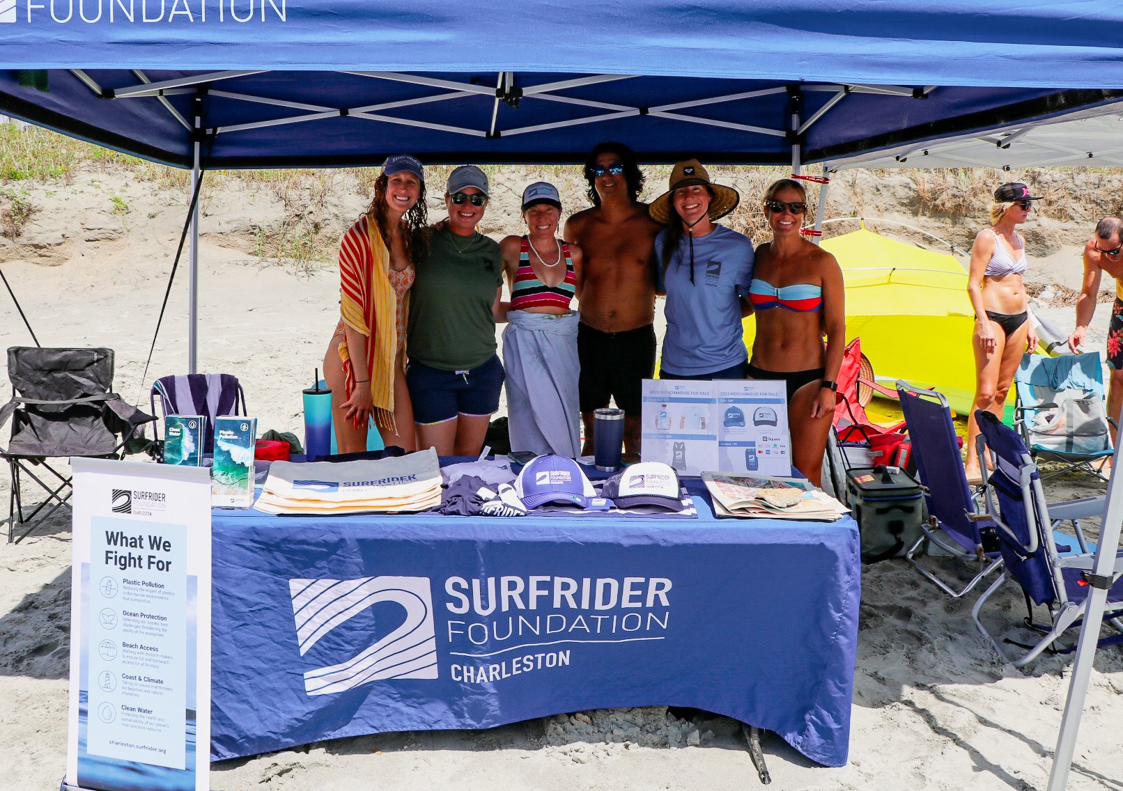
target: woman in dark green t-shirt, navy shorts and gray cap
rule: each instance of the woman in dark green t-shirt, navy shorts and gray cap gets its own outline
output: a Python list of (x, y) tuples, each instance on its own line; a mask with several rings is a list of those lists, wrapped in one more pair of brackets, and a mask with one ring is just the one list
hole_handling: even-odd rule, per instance
[(462, 165), (448, 176), (448, 222), (433, 231), (410, 296), (409, 368), (418, 448), (476, 456), (503, 389), (495, 323), (506, 321), (503, 257), (476, 230), (487, 206), (487, 176)]

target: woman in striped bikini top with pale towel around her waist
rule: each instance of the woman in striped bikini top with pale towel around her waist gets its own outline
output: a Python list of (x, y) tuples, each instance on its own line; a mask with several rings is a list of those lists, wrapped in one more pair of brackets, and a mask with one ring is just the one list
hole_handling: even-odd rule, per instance
[(581, 456), (577, 312), (581, 248), (558, 238), (562, 196), (548, 182), (522, 192), (529, 233), (500, 242), (511, 288), (503, 330), (512, 451)]

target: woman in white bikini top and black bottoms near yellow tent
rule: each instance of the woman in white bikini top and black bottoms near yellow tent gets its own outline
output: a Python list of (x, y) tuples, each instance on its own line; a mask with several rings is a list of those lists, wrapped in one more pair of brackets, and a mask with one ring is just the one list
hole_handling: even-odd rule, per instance
[(1033, 201), (1024, 184), (1003, 184), (994, 191), (990, 206), (993, 224), (979, 231), (971, 248), (967, 295), (975, 309), (975, 403), (967, 422), (967, 479), (979, 479), (975, 438), (978, 425), (975, 411), (986, 410), (1002, 416), (1014, 371), (1026, 349), (1038, 346), (1029, 314), (1029, 296), (1022, 275), (1025, 273), (1025, 242), (1015, 228), (1025, 222)]

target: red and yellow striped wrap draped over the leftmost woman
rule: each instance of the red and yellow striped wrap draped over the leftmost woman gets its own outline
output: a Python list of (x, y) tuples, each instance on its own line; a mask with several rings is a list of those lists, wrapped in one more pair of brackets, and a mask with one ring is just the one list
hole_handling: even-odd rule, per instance
[[(339, 312), (344, 323), (367, 337), (365, 371), (371, 379), (375, 425), (398, 433), (394, 423), (394, 358), (398, 326), (396, 295), (390, 285), (390, 251), (377, 223), (363, 217), (347, 229), (339, 242)], [(403, 297), (409, 310), (409, 294)], [(382, 320), (380, 321), (380, 316)], [(355, 390), (355, 365), (347, 340), (339, 343), (347, 397)], [(362, 371), (362, 369), (360, 369)]]

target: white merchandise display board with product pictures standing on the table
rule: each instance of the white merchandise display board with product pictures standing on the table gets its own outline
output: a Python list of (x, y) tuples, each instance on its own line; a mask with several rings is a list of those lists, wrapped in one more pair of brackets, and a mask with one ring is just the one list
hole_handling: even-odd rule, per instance
[(792, 471), (784, 384), (645, 379), (640, 458), (679, 475)]

